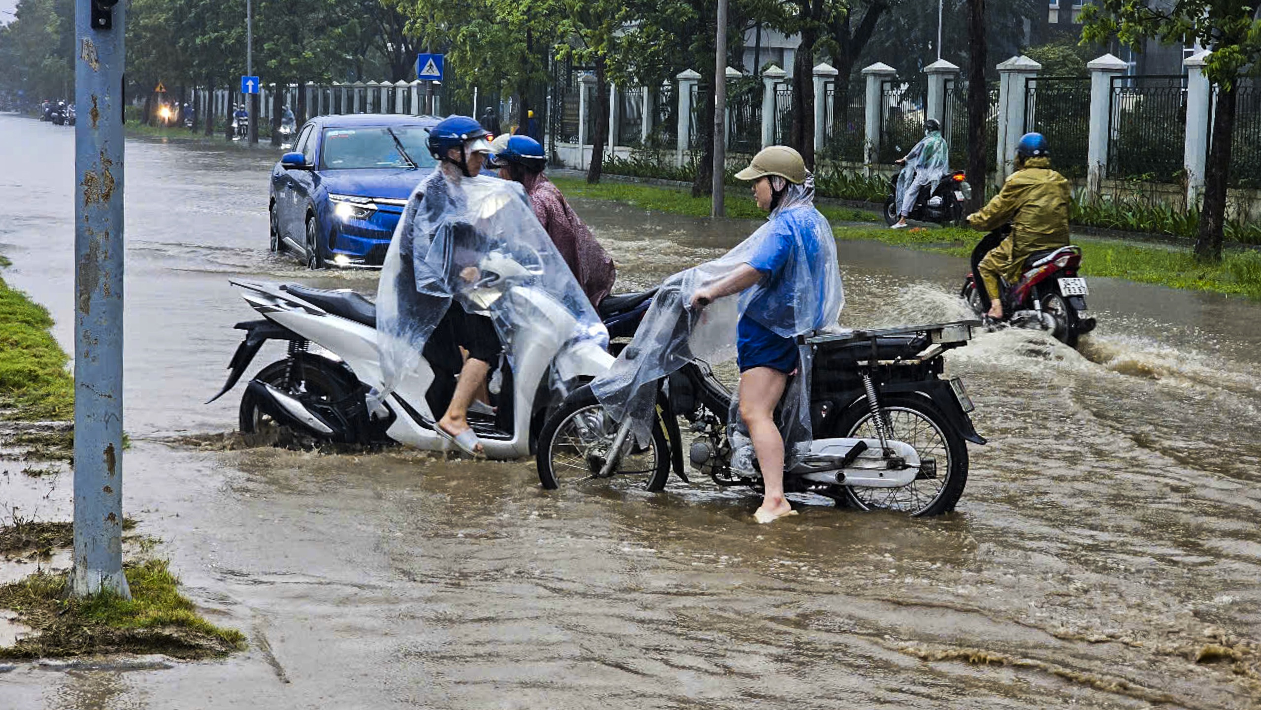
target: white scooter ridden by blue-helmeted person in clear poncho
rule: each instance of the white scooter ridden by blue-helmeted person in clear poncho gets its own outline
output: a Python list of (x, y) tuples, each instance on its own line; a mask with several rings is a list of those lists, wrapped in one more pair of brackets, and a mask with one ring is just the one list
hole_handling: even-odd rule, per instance
[[(504, 343), (507, 357), (491, 381), (493, 409), (469, 412), (469, 424), (487, 458), (518, 459), (532, 453), (542, 424), (569, 390), (605, 372), (613, 356), (598, 337), (565, 342), (578, 322), (555, 296), (532, 284), (528, 267), (492, 252), (483, 257), (479, 270), (469, 300), (489, 309), (506, 299), (499, 305), (513, 313), (513, 322), (537, 324), (517, 330)], [(264, 367), (246, 387), (240, 410), (242, 433), (282, 425), (315, 441), (454, 448), (436, 431), (434, 412), (440, 415), (450, 402), (459, 371), (458, 352), (454, 362), (443, 366), (439, 359), (453, 358), (431, 357), (426, 346), (419, 364), (369, 411), (366, 395), (382, 387), (376, 305), (371, 300), (348, 289), (231, 284), (245, 291), (245, 300), (264, 319), (237, 323), (236, 328), (246, 332), (245, 340), (228, 364), (232, 372), (227, 383), (211, 401), (237, 383), (262, 343), (289, 343), (288, 357)], [(431, 346), (454, 348), (450, 343)]]

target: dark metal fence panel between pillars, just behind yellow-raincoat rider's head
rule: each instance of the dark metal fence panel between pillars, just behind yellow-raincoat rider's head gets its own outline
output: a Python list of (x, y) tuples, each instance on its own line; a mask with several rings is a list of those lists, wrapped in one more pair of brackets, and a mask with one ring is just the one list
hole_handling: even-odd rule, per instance
[(1084, 178), (1091, 136), (1091, 78), (1025, 79), (1024, 132), (1047, 136), (1052, 163), (1068, 178)]

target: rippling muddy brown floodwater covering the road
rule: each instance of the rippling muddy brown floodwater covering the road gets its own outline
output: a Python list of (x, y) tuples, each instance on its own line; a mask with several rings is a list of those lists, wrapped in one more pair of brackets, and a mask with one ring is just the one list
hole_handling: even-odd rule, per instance
[[(267, 252), (266, 150), (131, 141), (125, 511), (250, 637), (224, 661), (0, 666), (0, 707), (1253, 707), (1261, 700), (1261, 304), (1091, 280), (1081, 353), (1029, 332), (947, 356), (977, 430), (956, 513), (859, 513), (692, 477), (543, 492), (532, 462), (245, 448), (255, 318), (231, 276), (375, 291)], [(73, 131), (0, 116), (4, 277), (71, 349)], [(618, 291), (750, 222), (575, 201)], [(966, 317), (962, 260), (840, 243), (847, 327)], [(269, 346), (270, 347), (270, 346)], [(261, 367), (282, 357), (265, 349)], [(71, 477), (0, 462), (68, 520)], [(0, 562), (4, 564), (4, 562)]]

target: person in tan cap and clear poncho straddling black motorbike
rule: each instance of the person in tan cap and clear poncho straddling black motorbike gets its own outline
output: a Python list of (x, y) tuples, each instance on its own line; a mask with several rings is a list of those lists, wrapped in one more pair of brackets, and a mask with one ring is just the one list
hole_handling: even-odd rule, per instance
[(632, 431), (646, 440), (658, 380), (694, 358), (712, 363), (735, 354), (731, 467), (752, 470), (755, 453), (765, 493), (754, 517), (770, 522), (793, 512), (783, 494), (784, 465), (810, 450), (811, 352), (796, 338), (836, 325), (845, 296), (832, 228), (815, 209), (801, 155), (767, 148), (736, 177), (753, 182), (758, 207), (770, 212), (767, 223), (725, 256), (667, 279), (634, 340), (591, 388), (609, 416), (630, 417)]

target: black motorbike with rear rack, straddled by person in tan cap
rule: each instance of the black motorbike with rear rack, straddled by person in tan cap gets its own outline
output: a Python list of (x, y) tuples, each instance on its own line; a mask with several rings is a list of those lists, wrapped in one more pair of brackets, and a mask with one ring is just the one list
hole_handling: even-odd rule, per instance
[[(677, 298), (677, 293), (657, 298)], [(941, 377), (942, 354), (966, 346), (977, 324), (806, 338), (813, 349), (815, 439), (810, 453), (784, 472), (784, 491), (912, 516), (955, 509), (967, 482), (967, 441), (985, 444), (985, 439), (967, 415), (972, 402), (962, 382)], [(671, 468), (686, 482), (681, 416), (697, 435), (689, 450), (694, 469), (721, 487), (760, 489), (760, 473), (733, 470), (735, 451), (726, 431), (730, 409), (731, 392), (709, 364), (694, 358), (657, 382), (652, 440), (637, 441), (629, 420), (613, 421), (591, 387), (580, 387), (538, 435), (540, 482), (543, 488), (557, 488), (562, 482), (617, 479), (661, 491)]]

